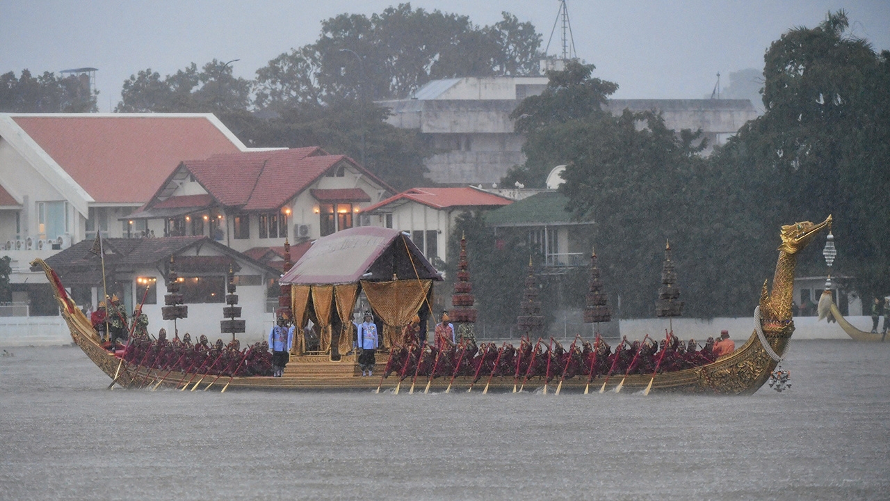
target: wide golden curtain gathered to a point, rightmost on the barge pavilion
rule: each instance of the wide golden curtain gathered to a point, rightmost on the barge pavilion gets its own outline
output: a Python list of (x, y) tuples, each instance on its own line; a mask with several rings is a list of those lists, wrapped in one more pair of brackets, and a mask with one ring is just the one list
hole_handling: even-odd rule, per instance
[(402, 328), (411, 323), (424, 304), (432, 284), (432, 280), (361, 282), (371, 308), (384, 321), (384, 348), (391, 348), (397, 342)]

